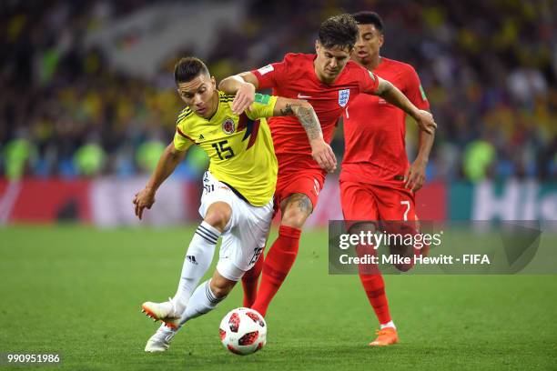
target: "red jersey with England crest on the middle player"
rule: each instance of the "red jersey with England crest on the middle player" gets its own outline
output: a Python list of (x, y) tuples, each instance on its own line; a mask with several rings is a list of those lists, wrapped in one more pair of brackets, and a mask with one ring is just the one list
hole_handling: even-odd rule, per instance
[[(344, 67), (335, 82), (326, 85), (315, 74), (317, 55), (288, 54), (282, 62), (251, 71), (258, 77), (259, 89), (272, 88), (273, 95), (309, 101), (319, 117), (323, 138), (330, 143), (344, 109), (360, 93), (372, 94), (379, 84), (377, 76), (353, 61)], [(299, 168), (319, 168), (311, 157), (308, 135), (295, 116), (268, 120), (279, 174)]]

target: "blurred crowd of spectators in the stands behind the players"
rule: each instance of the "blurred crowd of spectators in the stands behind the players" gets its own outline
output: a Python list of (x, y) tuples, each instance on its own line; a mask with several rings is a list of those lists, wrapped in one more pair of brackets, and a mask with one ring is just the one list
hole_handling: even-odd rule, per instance
[[(0, 171), (149, 172), (182, 108), (173, 65), (219, 80), (311, 53), (329, 15), (378, 12), (382, 55), (413, 65), (439, 130), (429, 179), (557, 179), (557, 2), (14, 1), (0, 5)], [(409, 125), (413, 128), (413, 125)], [(410, 159), (416, 133), (409, 130)], [(335, 138), (342, 154), (341, 130)], [(194, 151), (177, 170), (196, 177)]]

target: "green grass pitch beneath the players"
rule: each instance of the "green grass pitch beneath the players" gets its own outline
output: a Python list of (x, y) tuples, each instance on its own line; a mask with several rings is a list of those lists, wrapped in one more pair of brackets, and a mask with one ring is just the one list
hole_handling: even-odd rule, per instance
[(375, 316), (357, 276), (328, 275), (325, 230), (303, 233), (262, 351), (235, 356), (220, 345), (220, 319), (241, 306), (238, 286), (167, 353), (146, 354), (157, 325), (140, 305), (174, 295), (192, 231), (0, 229), (0, 353), (60, 354), (50, 370), (557, 368), (557, 276), (385, 276), (400, 344), (370, 348)]

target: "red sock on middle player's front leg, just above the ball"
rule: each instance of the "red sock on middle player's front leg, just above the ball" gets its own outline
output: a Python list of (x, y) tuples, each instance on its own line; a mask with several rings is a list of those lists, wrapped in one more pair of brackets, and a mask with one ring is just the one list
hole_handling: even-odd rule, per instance
[(296, 260), (300, 235), (301, 229), (291, 226), (280, 226), (279, 237), (268, 250), (263, 265), (263, 275), (258, 290), (258, 297), (253, 306), (251, 306), (262, 316), (267, 314), (270, 301), (279, 291), (279, 287), (289, 274), (294, 260)]

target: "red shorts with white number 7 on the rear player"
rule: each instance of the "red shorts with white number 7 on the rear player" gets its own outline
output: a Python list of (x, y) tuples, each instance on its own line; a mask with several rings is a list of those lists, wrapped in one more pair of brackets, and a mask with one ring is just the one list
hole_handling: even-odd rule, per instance
[(341, 181), (340, 204), (345, 220), (418, 220), (410, 189)]

